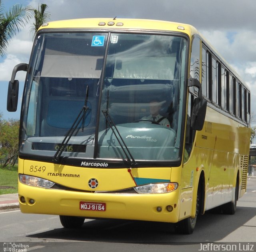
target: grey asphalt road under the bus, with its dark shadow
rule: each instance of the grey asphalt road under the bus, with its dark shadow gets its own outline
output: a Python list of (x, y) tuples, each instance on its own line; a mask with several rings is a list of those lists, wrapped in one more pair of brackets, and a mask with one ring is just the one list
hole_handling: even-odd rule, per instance
[(86, 220), (82, 229), (66, 230), (58, 216), (18, 209), (1, 211), (0, 227), (0, 251), (17, 245), (36, 252), (256, 251), (256, 178), (248, 178), (236, 214), (206, 212), (191, 235), (175, 234), (173, 224), (130, 220)]

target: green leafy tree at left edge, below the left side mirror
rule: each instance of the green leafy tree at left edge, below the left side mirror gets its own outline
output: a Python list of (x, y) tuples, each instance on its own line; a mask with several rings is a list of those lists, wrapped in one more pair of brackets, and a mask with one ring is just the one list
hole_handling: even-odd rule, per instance
[(0, 164), (2, 167), (8, 164), (14, 166), (18, 158), (19, 125), (19, 120), (4, 120), (0, 114)]

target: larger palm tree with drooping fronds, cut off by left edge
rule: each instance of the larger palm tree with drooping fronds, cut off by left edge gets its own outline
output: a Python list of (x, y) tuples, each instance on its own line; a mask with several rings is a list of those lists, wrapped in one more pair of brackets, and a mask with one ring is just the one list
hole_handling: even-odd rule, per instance
[(31, 7), (23, 7), (22, 4), (16, 4), (5, 12), (0, 0), (0, 56), (4, 56), (10, 40), (28, 23), (32, 17)]

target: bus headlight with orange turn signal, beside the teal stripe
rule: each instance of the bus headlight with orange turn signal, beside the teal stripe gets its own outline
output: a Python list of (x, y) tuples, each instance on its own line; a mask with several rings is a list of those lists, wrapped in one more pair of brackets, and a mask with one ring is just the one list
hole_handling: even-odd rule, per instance
[(178, 183), (147, 184), (134, 187), (135, 191), (142, 194), (167, 193), (176, 190)]

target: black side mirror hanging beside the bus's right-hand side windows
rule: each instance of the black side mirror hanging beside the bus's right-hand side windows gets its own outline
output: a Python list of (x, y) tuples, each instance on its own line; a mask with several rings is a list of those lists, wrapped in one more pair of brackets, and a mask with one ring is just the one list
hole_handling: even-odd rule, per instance
[(206, 115), (207, 100), (195, 98), (190, 125), (193, 130), (202, 130)]

